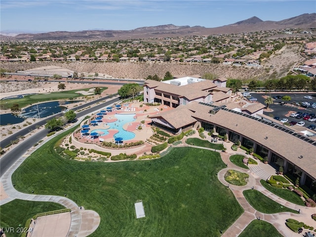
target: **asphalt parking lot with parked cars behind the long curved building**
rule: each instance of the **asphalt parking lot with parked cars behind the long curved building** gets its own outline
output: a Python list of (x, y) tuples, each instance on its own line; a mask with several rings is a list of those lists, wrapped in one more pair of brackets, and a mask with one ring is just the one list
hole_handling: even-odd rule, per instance
[[(292, 111), (293, 112), (301, 112), (302, 114), (303, 113), (308, 113), (308, 114), (316, 114), (316, 109), (313, 109), (311, 107), (307, 107), (307, 108), (303, 108), (303, 107), (300, 107), (300, 106), (296, 106), (293, 104), (293, 102), (297, 102), (299, 104), (301, 104), (302, 102), (308, 102), (310, 103), (311, 105), (313, 103), (316, 103), (316, 97), (315, 96), (312, 96), (311, 98), (312, 99), (307, 99), (307, 98), (304, 98), (304, 96), (311, 96), (311, 95), (315, 95), (316, 93), (277, 93), (277, 92), (274, 92), (274, 93), (254, 93), (254, 92), (250, 92), (251, 93), (251, 96), (256, 98), (258, 102), (265, 104), (265, 98), (263, 97), (264, 95), (268, 95), (268, 96), (271, 96), (271, 97), (275, 97), (275, 96), (278, 96), (279, 98), (285, 96), (285, 95), (288, 95), (291, 97), (291, 100), (290, 101), (284, 101), (282, 99), (274, 99), (274, 104), (270, 105), (269, 108), (273, 110), (273, 112), (264, 112), (265, 115), (267, 116), (271, 116), (273, 115), (273, 117), (279, 117), (279, 120), (281, 120), (282, 118), (287, 118), (288, 119), (288, 123), (290, 123), (291, 121), (295, 121), (295, 122), (300, 122), (300, 121), (304, 121), (305, 122), (305, 125), (304, 127), (308, 127), (309, 125), (316, 125), (316, 122), (312, 122), (312, 121), (308, 121), (308, 120), (305, 120), (303, 118), (293, 118), (293, 117), (289, 117), (289, 112)], [(285, 102), (285, 104), (282, 106), (281, 105), (281, 102)]]

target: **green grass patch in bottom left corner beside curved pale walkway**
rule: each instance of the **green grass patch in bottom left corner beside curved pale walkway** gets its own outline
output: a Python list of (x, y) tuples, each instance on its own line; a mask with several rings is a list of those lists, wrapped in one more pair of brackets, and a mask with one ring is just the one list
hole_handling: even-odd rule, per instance
[(26, 221), (33, 218), (34, 215), (64, 208), (63, 205), (54, 202), (14, 199), (0, 206), (0, 224), (2, 228), (7, 228), (7, 230), (10, 227), (13, 227), (15, 230), (15, 233), (12, 233), (12, 231), (6, 233), (6, 237), (19, 237), (21, 234), (16, 233), (17, 228), (25, 227)]

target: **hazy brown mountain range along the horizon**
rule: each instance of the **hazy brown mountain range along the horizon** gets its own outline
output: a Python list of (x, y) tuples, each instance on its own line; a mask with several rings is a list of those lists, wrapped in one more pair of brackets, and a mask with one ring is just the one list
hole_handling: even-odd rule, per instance
[(316, 13), (302, 14), (281, 21), (262, 21), (254, 16), (234, 24), (215, 28), (202, 26), (160, 25), (140, 27), (129, 31), (119, 30), (86, 30), (77, 32), (55, 31), (37, 34), (18, 34), (1, 36), (1, 40), (130, 40), (184, 36), (210, 36), (217, 34), (237, 34), (279, 29), (311, 30), (316, 28)]

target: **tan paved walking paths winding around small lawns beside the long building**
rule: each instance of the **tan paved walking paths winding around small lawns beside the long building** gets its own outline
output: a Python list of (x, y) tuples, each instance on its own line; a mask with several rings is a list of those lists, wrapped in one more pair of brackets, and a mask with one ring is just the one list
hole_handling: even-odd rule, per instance
[[(193, 135), (193, 137), (199, 138), (197, 134)], [(304, 222), (306, 225), (316, 227), (316, 222), (311, 218), (311, 215), (313, 213), (316, 213), (316, 208), (296, 205), (266, 190), (261, 185), (260, 180), (261, 179), (267, 180), (271, 175), (276, 175), (275, 168), (273, 168), (269, 164), (264, 164), (259, 161), (257, 165), (249, 164), (248, 165), (249, 169), (243, 169), (235, 165), (234, 163), (232, 163), (229, 158), (232, 155), (243, 155), (246, 158), (250, 158), (251, 156), (246, 155), (245, 151), (241, 150), (240, 148), (238, 148), (237, 151), (233, 151), (231, 149), (231, 146), (233, 145), (232, 142), (228, 142), (228, 143), (224, 142), (223, 145), (227, 150), (226, 152), (221, 152), (220, 155), (223, 162), (227, 164), (227, 168), (219, 171), (217, 176), (218, 176), (219, 181), (222, 184), (224, 184), (229, 189), (231, 189), (238, 203), (244, 209), (244, 212), (242, 213), (242, 215), (222, 234), (223, 237), (238, 237), (241, 234), (241, 232), (250, 224), (250, 222), (252, 222), (253, 220), (259, 221), (259, 219), (264, 220), (274, 225), (276, 230), (284, 237), (302, 237), (303, 234), (305, 234), (305, 232), (311, 232), (316, 235), (316, 232), (307, 231), (307, 230), (304, 230), (303, 233), (298, 234), (291, 231), (288, 227), (286, 227), (285, 220), (288, 218), (293, 218), (300, 222)], [(181, 146), (190, 146), (190, 147), (196, 147), (200, 149), (215, 151), (214, 149), (210, 149), (210, 148), (191, 146), (191, 145), (186, 144), (185, 142), (183, 142), (182, 144), (179, 144), (178, 146), (173, 146), (173, 147), (181, 147)], [(234, 170), (249, 174), (249, 180), (248, 180), (247, 185), (235, 186), (235, 185), (229, 184), (224, 178), (226, 171), (229, 169), (234, 169)], [(283, 206), (286, 206), (288, 208), (291, 208), (297, 211), (300, 210), (300, 214), (294, 214), (291, 212), (265, 214), (265, 213), (257, 211), (248, 203), (248, 201), (246, 200), (246, 198), (243, 196), (243, 193), (242, 193), (244, 190), (249, 190), (252, 187), (253, 189), (260, 191), (265, 196), (271, 198), (272, 200), (280, 203)]]

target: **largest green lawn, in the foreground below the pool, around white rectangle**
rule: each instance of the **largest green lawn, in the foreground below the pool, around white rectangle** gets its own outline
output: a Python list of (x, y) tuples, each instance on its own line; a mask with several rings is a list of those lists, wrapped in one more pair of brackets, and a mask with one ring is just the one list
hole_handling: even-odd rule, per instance
[[(217, 179), (226, 167), (219, 153), (183, 147), (155, 160), (79, 162), (57, 157), (53, 145), (59, 138), (27, 158), (12, 182), (21, 192), (67, 194), (98, 212), (101, 223), (91, 236), (216, 237), (243, 212)], [(138, 199), (145, 218), (136, 219)]]

